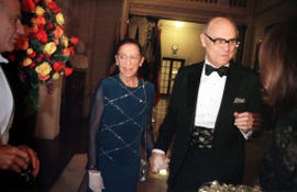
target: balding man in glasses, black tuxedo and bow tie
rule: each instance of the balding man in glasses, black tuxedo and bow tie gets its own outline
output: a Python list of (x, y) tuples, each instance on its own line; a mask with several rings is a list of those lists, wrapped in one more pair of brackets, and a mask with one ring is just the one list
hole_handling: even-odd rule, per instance
[(200, 39), (205, 61), (179, 69), (150, 160), (153, 172), (166, 168), (175, 138), (169, 192), (197, 192), (213, 180), (241, 183), (245, 139), (262, 121), (257, 74), (232, 61), (239, 46), (234, 22), (211, 19)]

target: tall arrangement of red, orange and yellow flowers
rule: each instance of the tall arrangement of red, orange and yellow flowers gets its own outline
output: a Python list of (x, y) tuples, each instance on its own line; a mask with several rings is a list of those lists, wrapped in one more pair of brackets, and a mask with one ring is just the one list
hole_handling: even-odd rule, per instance
[(78, 38), (65, 35), (64, 15), (54, 0), (21, 0), (21, 10), (25, 35), (8, 58), (20, 65), (21, 79), (30, 79), (33, 89), (42, 83), (52, 93), (53, 81), (74, 70), (68, 60)]

